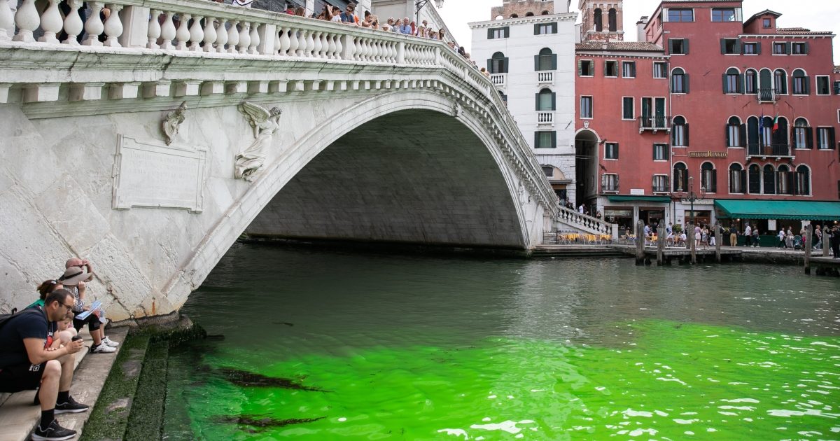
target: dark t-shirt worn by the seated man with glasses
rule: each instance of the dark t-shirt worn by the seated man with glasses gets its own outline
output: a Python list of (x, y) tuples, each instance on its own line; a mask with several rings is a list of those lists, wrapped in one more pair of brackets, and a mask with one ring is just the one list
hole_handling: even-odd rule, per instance
[(46, 347), (52, 344), (55, 329), (56, 323), (48, 323), (41, 309), (27, 309), (18, 317), (9, 319), (0, 328), (0, 369), (29, 363), (24, 339), (43, 339)]

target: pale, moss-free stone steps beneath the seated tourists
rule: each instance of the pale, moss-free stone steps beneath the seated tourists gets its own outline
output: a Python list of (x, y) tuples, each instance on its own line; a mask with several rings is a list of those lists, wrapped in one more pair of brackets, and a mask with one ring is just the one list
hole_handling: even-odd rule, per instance
[[(128, 328), (109, 328), (108, 337), (123, 342), (128, 331)], [(93, 342), (87, 330), (83, 329), (80, 334), (84, 338), (85, 346), (90, 347)], [(71, 396), (93, 408), (121, 348), (122, 344), (117, 347), (117, 352), (111, 354), (88, 354), (87, 350), (79, 351), (70, 388)], [(0, 394), (0, 441), (29, 439), (29, 434), (32, 433), (41, 414), (40, 407), (32, 404), (34, 396), (35, 391)], [(91, 412), (64, 413), (56, 418), (62, 426), (81, 433), (81, 428), (90, 415)], [(74, 439), (78, 438), (76, 435)]]

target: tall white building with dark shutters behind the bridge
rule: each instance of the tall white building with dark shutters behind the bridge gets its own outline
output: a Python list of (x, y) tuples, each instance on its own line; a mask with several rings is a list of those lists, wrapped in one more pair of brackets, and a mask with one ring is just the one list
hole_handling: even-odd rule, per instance
[(470, 23), (471, 58), (491, 72), (561, 201), (575, 201), (575, 19), (568, 0), (504, 0)]

